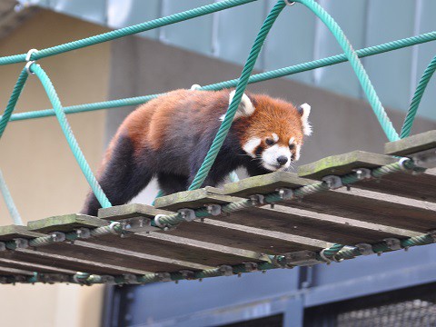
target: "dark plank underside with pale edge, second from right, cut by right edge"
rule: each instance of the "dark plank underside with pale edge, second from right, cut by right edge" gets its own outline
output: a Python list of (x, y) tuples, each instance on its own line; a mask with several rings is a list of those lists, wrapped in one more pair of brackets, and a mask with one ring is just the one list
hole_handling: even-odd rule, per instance
[(313, 193), (305, 196), (302, 201), (291, 200), (282, 204), (422, 233), (436, 229), (434, 203), (422, 203), (357, 188), (352, 188), (351, 191), (339, 189)]

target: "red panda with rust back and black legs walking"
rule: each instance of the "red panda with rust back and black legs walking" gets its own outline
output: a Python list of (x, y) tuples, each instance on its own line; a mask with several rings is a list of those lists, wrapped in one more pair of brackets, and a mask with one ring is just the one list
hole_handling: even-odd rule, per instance
[[(139, 106), (114, 135), (98, 173), (113, 205), (124, 204), (155, 176), (164, 193), (185, 191), (213, 143), (234, 91), (176, 90)], [(212, 169), (215, 186), (238, 167), (251, 176), (289, 168), (312, 134), (309, 104), (298, 108), (265, 94), (243, 94)], [(89, 193), (82, 213), (100, 204)]]

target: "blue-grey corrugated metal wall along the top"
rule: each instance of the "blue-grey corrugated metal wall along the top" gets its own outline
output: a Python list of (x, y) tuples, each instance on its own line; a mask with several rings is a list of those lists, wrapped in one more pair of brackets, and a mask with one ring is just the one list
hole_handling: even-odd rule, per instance
[[(25, 0), (24, 0), (25, 1)], [(31, 0), (55, 11), (120, 28), (171, 15), (211, 0)], [(264, 17), (275, 0), (260, 0), (177, 25), (144, 33), (201, 54), (243, 64)], [(342, 26), (354, 48), (436, 30), (434, 0), (319, 0)], [(272, 28), (256, 68), (271, 70), (342, 53), (339, 45), (312, 13), (302, 5), (287, 7)], [(436, 42), (363, 59), (384, 105), (407, 110), (415, 84), (436, 54)], [(362, 97), (349, 64), (339, 64), (290, 78), (332, 92)], [(423, 117), (436, 119), (433, 80), (421, 104)]]

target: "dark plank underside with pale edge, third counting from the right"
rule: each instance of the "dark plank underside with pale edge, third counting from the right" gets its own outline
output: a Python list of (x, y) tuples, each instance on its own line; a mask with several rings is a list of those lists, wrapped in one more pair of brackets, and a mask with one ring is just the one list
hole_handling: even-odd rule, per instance
[(404, 238), (421, 234), (380, 223), (365, 223), (278, 204), (275, 204), (273, 209), (264, 206), (237, 211), (225, 217), (224, 221), (265, 231), (290, 233), (325, 242), (349, 245), (362, 242), (377, 243), (387, 237)]

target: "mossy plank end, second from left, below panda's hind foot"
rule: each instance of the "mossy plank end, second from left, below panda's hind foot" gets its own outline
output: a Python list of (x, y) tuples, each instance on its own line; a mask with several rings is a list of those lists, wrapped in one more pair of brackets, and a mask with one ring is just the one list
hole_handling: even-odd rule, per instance
[(61, 216), (53, 216), (45, 219), (36, 220), (27, 223), (27, 228), (30, 231), (39, 233), (49, 233), (49, 232), (72, 232), (77, 228), (96, 228), (107, 225), (108, 223), (97, 217), (72, 213), (65, 214)]

